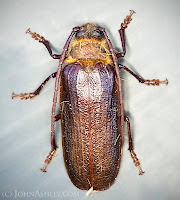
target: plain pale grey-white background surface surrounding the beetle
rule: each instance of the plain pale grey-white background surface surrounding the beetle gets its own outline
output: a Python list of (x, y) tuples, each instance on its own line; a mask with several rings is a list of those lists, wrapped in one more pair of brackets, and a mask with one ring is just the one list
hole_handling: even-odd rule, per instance
[[(33, 92), (58, 66), (25, 31), (30, 27), (43, 35), (60, 53), (74, 26), (93, 22), (105, 27), (121, 50), (117, 30), (130, 9), (136, 14), (126, 30), (127, 54), (119, 62), (144, 78), (168, 78), (169, 85), (148, 87), (122, 73), (125, 111), (145, 174), (139, 176), (134, 167), (126, 134), (115, 183), (86, 197), (66, 173), (59, 123), (57, 156), (47, 173), (40, 171), (50, 150), (54, 80), (32, 100), (11, 99), (12, 92)], [(0, 0), (0, 199), (15, 199), (16, 192), (19, 199), (180, 198), (179, 10), (178, 0)], [(36, 196), (30, 197), (33, 192)]]

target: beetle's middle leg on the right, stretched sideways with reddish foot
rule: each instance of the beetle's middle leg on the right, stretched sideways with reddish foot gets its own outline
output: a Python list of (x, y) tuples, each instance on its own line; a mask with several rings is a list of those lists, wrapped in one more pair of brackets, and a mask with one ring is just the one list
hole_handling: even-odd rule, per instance
[(153, 85), (153, 86), (157, 85), (157, 86), (159, 86), (160, 84), (166, 84), (166, 85), (168, 85), (168, 80), (167, 79), (165, 79), (163, 81), (161, 81), (159, 79), (146, 80), (146, 79), (141, 78), (137, 74), (135, 74), (133, 71), (131, 71), (126, 66), (123, 66), (123, 65), (119, 64), (119, 68), (120, 69), (121, 68), (125, 69), (127, 72), (129, 72), (130, 74), (132, 74), (140, 83), (144, 83), (144, 84), (146, 84), (148, 86), (149, 85)]

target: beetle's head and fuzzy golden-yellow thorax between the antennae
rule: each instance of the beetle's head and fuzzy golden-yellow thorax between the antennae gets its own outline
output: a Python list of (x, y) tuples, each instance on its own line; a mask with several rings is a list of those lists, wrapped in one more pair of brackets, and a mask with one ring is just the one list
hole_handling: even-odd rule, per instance
[(66, 64), (81, 63), (84, 67), (97, 62), (112, 64), (112, 58), (104, 35), (95, 24), (85, 24), (71, 42)]

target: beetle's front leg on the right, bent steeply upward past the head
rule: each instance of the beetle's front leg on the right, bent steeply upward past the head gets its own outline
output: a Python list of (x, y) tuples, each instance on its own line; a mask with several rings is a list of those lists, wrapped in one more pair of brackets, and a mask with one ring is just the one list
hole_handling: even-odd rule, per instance
[(124, 37), (124, 32), (125, 29), (127, 28), (127, 25), (130, 23), (130, 21), (132, 20), (132, 15), (135, 13), (134, 10), (130, 10), (130, 14), (124, 19), (124, 23), (121, 24), (121, 28), (118, 30), (120, 37), (121, 37), (121, 44), (122, 44), (122, 49), (123, 52), (120, 53), (116, 53), (116, 57), (117, 58), (121, 58), (124, 57), (126, 54), (126, 44), (125, 44), (125, 37)]

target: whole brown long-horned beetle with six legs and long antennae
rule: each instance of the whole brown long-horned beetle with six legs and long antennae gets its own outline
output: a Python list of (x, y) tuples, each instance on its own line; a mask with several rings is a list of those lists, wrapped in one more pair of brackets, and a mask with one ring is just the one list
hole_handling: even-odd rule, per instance
[[(12, 98), (31, 99), (51, 78), (56, 78), (51, 115), (51, 151), (41, 170), (46, 172), (56, 152), (54, 124), (61, 120), (65, 166), (72, 183), (82, 190), (106, 190), (115, 181), (124, 143), (124, 122), (128, 125), (130, 155), (139, 175), (144, 173), (133, 149), (130, 120), (124, 115), (119, 69), (126, 70), (146, 85), (167, 85), (168, 80), (145, 80), (118, 64), (117, 59), (126, 53), (124, 33), (134, 13), (130, 10), (119, 29), (122, 52), (114, 50), (105, 29), (96, 24), (73, 28), (61, 55), (52, 53), (50, 43), (44, 37), (30, 29), (26, 32), (44, 44), (53, 59), (59, 59), (59, 67), (35, 92), (12, 93)], [(55, 116), (58, 91), (60, 114)]]

